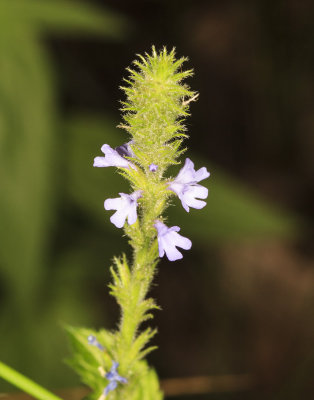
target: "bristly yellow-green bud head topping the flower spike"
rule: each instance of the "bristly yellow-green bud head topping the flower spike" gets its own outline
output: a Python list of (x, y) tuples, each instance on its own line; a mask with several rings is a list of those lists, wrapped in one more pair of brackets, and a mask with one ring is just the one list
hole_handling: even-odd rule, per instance
[[(146, 171), (157, 162), (159, 172), (171, 164), (184, 151), (178, 151), (185, 134), (184, 118), (189, 115), (189, 103), (197, 98), (196, 92), (182, 84), (193, 75), (193, 70), (182, 71), (186, 57), (175, 59), (175, 49), (170, 52), (164, 47), (145, 57), (138, 55), (134, 69), (127, 68), (130, 78), (121, 87), (126, 94), (122, 102), (124, 124), (132, 137), (132, 148), (137, 163)], [(145, 96), (147, 94), (147, 96)], [(156, 159), (158, 155), (158, 160)]]

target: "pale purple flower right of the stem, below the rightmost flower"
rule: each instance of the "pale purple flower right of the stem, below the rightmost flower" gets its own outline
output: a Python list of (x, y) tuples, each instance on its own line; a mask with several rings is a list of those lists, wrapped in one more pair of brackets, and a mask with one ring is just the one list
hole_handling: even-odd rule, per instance
[(180, 231), (178, 226), (168, 228), (165, 224), (157, 220), (154, 227), (157, 229), (159, 257), (163, 257), (166, 253), (169, 261), (180, 260), (183, 256), (177, 250), (176, 246), (184, 250), (189, 250), (192, 247), (190, 239), (177, 233)]

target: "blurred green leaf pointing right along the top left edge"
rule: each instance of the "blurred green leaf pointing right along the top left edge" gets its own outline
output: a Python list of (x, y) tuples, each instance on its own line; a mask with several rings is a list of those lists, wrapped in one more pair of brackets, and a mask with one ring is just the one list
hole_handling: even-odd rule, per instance
[(121, 16), (105, 11), (103, 7), (100, 12), (87, 2), (0, 0), (0, 27), (9, 28), (12, 24), (54, 33), (97, 33), (111, 38), (121, 37), (127, 28), (126, 20)]

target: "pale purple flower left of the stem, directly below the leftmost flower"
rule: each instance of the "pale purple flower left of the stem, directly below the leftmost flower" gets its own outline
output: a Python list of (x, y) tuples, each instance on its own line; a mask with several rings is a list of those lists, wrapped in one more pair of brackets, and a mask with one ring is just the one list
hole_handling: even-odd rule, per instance
[(137, 190), (132, 194), (119, 193), (121, 197), (116, 199), (107, 199), (105, 201), (105, 210), (117, 210), (111, 217), (110, 221), (117, 227), (122, 228), (125, 220), (128, 219), (129, 225), (137, 220), (137, 199), (141, 197), (142, 191)]

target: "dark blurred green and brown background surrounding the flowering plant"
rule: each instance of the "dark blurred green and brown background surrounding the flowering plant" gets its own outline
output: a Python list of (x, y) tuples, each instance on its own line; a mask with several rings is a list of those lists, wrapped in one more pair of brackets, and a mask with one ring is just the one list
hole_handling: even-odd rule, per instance
[(313, 396), (313, 20), (310, 0), (0, 1), (2, 361), (76, 386), (62, 324), (116, 327), (109, 266), (130, 250), (103, 201), (127, 189), (92, 161), (128, 140), (125, 68), (165, 45), (194, 68), (188, 155), (212, 175), (205, 209), (169, 210), (193, 249), (160, 263), (149, 362), (249, 374), (185, 399)]

